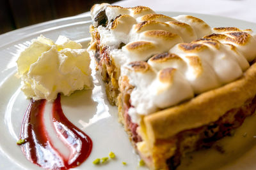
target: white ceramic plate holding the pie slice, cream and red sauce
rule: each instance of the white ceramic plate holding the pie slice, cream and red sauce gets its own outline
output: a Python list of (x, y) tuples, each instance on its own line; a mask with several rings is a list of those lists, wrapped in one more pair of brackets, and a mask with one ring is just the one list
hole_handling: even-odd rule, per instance
[[(183, 13), (163, 14), (172, 17)], [(256, 27), (256, 24), (231, 18), (188, 14), (202, 18), (212, 27)], [(26, 160), (20, 147), (16, 145), (22, 117), (29, 104), (29, 100), (20, 92), (15, 65), (17, 53), (29, 45), (28, 41), (40, 34), (54, 40), (61, 34), (86, 47), (90, 39), (90, 23), (88, 15), (80, 15), (32, 25), (0, 36), (0, 169), (41, 169)], [(93, 78), (93, 90), (82, 90), (70, 97), (61, 98), (65, 115), (93, 141), (90, 157), (75, 169), (147, 169), (138, 167), (138, 156), (133, 152), (122, 125), (118, 123), (116, 108), (106, 100), (102, 81), (97, 80), (95, 72)], [(191, 153), (182, 161), (179, 169), (256, 169), (256, 138), (253, 138), (256, 136), (253, 131), (256, 129), (255, 121), (255, 116), (248, 118), (232, 138), (218, 142), (225, 153), (214, 149)], [(106, 157), (110, 151), (116, 154), (115, 160), (104, 166), (92, 164), (94, 159)], [(122, 164), (123, 161), (127, 162), (127, 166)]]

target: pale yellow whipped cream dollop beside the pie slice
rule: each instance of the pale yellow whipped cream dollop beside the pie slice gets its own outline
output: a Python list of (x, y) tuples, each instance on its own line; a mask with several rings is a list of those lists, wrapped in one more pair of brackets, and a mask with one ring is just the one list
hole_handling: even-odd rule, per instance
[(52, 101), (58, 93), (69, 96), (92, 87), (88, 52), (65, 36), (59, 36), (56, 43), (42, 35), (33, 39), (20, 53), (17, 67), (21, 90), (34, 100)]

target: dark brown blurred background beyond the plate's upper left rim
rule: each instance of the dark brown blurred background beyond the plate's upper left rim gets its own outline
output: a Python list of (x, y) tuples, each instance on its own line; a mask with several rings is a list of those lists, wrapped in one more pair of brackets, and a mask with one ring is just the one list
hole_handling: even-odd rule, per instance
[(89, 11), (95, 3), (89, 0), (0, 0), (0, 34), (47, 20), (69, 17)]

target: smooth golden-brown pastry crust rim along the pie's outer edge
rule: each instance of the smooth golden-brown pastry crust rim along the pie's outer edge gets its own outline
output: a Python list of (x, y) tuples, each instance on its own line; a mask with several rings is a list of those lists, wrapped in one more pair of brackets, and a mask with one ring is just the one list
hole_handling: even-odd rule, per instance
[(150, 145), (154, 146), (157, 139), (170, 139), (180, 131), (210, 124), (255, 96), (256, 63), (236, 81), (143, 117), (144, 132)]

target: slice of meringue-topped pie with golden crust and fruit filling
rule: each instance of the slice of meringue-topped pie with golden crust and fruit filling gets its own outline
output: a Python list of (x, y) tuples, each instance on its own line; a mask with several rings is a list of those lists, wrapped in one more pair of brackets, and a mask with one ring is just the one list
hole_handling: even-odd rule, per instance
[(95, 4), (88, 50), (150, 169), (230, 135), (256, 108), (256, 36), (150, 8)]

